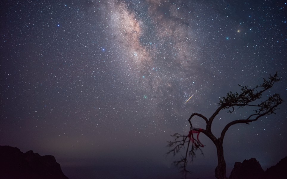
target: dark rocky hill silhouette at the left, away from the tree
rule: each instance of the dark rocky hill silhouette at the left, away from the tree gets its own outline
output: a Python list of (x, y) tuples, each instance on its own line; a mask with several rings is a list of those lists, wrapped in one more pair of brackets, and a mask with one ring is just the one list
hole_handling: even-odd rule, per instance
[(40, 156), (32, 150), (23, 153), (10, 146), (0, 146), (0, 178), (68, 179), (54, 156)]

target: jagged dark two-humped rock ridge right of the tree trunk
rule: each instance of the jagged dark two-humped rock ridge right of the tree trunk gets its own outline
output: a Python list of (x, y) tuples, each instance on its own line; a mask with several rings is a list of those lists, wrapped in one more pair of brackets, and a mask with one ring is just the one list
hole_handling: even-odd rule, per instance
[(287, 157), (281, 159), (275, 166), (268, 168), (265, 172), (255, 158), (235, 162), (229, 179), (286, 179), (287, 178)]

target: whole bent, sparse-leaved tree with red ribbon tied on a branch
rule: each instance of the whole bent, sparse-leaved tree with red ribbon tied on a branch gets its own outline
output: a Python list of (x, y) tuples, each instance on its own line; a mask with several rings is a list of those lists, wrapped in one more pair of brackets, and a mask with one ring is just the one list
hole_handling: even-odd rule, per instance
[[(218, 103), (219, 105), (218, 109), (216, 109), (216, 111), (211, 115), (209, 119), (199, 113), (191, 114), (191, 116), (188, 119), (188, 122), (190, 124), (189, 134), (182, 135), (176, 133), (171, 135), (175, 139), (173, 141), (169, 141), (169, 147), (171, 147), (171, 150), (169, 150), (168, 153), (173, 153), (175, 155), (176, 153), (179, 153), (181, 150), (184, 151), (184, 155), (182, 155), (180, 160), (175, 161), (174, 163), (180, 168), (182, 168), (182, 171), (185, 174), (189, 172), (186, 169), (188, 157), (190, 156), (192, 160), (195, 157), (196, 150), (200, 150), (202, 153), (201, 147), (203, 147), (203, 145), (198, 140), (198, 134), (202, 132), (209, 139), (211, 139), (211, 141), (216, 146), (218, 164), (215, 169), (215, 177), (218, 179), (226, 179), (226, 163), (224, 160), (223, 145), (222, 145), (226, 131), (232, 125), (240, 123), (249, 124), (253, 121), (257, 121), (259, 118), (263, 116), (275, 114), (274, 111), (278, 109), (277, 106), (283, 102), (283, 99), (280, 98), (280, 94), (269, 95), (268, 99), (261, 102), (259, 101), (259, 99), (261, 99), (262, 93), (271, 88), (277, 81), (280, 81), (280, 78), (278, 78), (276, 72), (276, 74), (273, 76), (269, 74), (268, 79), (263, 78), (263, 83), (257, 85), (254, 88), (238, 85), (241, 87), (241, 92), (240, 93), (229, 92), (225, 97), (220, 98), (220, 101)], [(248, 117), (244, 117), (244, 119), (234, 120), (228, 123), (223, 128), (220, 137), (216, 138), (216, 136), (214, 136), (211, 132), (211, 125), (215, 117), (219, 114), (219, 112), (225, 109), (227, 110), (226, 112), (232, 113), (234, 112), (234, 108), (243, 108), (243, 107), (253, 108), (254, 111)], [(191, 119), (194, 116), (199, 116), (205, 121), (206, 123), (205, 129), (193, 127)], [(197, 137), (195, 137), (194, 135), (197, 135)]]

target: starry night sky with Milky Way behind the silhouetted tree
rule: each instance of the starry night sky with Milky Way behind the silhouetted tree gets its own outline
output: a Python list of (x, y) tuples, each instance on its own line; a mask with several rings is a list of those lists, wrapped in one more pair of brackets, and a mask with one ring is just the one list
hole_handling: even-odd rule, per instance
[[(276, 71), (265, 95), (287, 100), (286, 3), (1, 1), (0, 145), (53, 155), (70, 179), (180, 178), (166, 141), (188, 134), (193, 112), (210, 117), (237, 84)], [(266, 169), (287, 156), (286, 109), (228, 130), (227, 176), (236, 161)], [(214, 135), (249, 112), (222, 111)], [(216, 149), (200, 140), (191, 177), (212, 178)]]

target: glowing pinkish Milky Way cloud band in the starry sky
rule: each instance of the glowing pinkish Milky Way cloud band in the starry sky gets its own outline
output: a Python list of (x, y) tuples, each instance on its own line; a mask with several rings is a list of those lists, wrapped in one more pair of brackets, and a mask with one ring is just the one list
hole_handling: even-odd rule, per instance
[(136, 13), (129, 4), (107, 1), (101, 8), (106, 12), (102, 18), (107, 21), (114, 47), (111, 66), (121, 76), (130, 96), (137, 101), (142, 96), (155, 104), (180, 106), (186, 100), (184, 92), (207, 88), (204, 83), (196, 82), (200, 48), (195, 35), (188, 32), (191, 19), (186, 17), (187, 12), (180, 17), (177, 13), (169, 17), (160, 8), (174, 11), (174, 4), (165, 3), (161, 7), (156, 2), (139, 2), (138, 8), (145, 7), (147, 12)]

